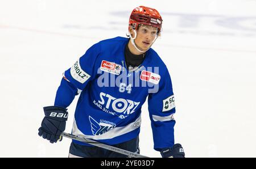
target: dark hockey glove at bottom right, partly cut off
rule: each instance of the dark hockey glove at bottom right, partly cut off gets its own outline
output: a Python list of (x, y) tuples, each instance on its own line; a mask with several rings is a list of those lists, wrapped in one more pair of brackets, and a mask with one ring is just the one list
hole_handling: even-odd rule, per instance
[(185, 158), (183, 147), (176, 143), (172, 147), (164, 148), (160, 151), (163, 158), (174, 157), (174, 158)]

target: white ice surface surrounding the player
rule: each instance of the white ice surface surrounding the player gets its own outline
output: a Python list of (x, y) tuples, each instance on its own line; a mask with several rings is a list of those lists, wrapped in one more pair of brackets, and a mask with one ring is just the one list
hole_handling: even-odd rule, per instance
[[(256, 157), (256, 1), (0, 0), (0, 157), (67, 157), (71, 140), (38, 136), (62, 73), (94, 43), (126, 36), (131, 10), (157, 9), (152, 46), (171, 73), (175, 142), (187, 157)], [(71, 132), (78, 97), (69, 106)], [(147, 103), (141, 154), (153, 149)]]

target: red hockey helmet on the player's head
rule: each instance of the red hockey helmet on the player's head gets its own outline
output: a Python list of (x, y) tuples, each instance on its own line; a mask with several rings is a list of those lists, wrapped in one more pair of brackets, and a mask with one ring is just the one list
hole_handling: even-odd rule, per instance
[(131, 12), (129, 26), (137, 29), (139, 24), (146, 24), (156, 27), (160, 31), (162, 22), (162, 17), (157, 10), (146, 6), (139, 6)]

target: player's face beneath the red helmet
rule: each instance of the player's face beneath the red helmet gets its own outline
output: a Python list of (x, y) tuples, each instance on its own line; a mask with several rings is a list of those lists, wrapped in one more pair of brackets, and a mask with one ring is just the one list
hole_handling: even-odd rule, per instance
[(135, 39), (135, 44), (139, 49), (147, 50), (155, 40), (157, 36), (158, 28), (140, 25), (137, 30), (137, 37)]

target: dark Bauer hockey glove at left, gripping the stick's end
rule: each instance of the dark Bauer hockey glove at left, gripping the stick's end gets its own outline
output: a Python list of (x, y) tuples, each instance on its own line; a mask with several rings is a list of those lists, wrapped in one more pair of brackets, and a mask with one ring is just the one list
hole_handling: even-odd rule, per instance
[(62, 140), (60, 134), (64, 132), (68, 112), (66, 108), (58, 106), (44, 107), (44, 115), (41, 127), (38, 129), (39, 136), (49, 140), (51, 143)]

